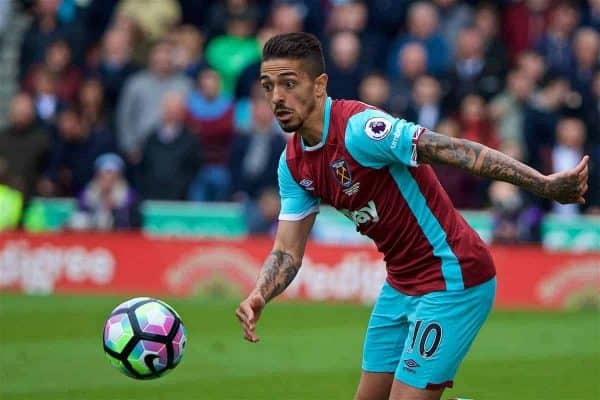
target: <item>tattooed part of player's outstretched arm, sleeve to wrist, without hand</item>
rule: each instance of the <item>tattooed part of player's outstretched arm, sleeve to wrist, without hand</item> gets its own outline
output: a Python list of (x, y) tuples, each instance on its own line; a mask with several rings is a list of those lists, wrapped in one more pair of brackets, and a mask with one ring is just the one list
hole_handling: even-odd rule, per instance
[(419, 160), (453, 165), (486, 178), (502, 180), (543, 195), (544, 175), (480, 143), (426, 131), (417, 143)]

